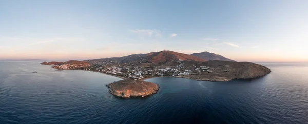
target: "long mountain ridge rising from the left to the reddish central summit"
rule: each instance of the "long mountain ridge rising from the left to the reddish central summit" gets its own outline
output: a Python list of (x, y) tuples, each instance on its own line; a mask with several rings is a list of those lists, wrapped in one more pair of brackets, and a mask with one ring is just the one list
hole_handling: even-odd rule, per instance
[(85, 60), (88, 62), (99, 61), (99, 62), (110, 62), (114, 63), (167, 63), (170, 61), (181, 61), (181, 60), (194, 60), (194, 61), (206, 61), (205, 59), (184, 54), (174, 51), (160, 51), (160, 52), (151, 52), (147, 54), (132, 54), (123, 57), (112, 57), (112, 58), (100, 58)]

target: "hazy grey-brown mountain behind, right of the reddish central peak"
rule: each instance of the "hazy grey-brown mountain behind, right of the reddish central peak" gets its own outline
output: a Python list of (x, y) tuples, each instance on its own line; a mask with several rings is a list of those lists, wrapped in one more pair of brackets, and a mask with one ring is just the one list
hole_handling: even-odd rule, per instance
[(191, 55), (203, 58), (205, 60), (223, 60), (223, 61), (235, 61), (226, 57), (223, 57), (221, 55), (215, 54), (215, 53), (209, 53), (209, 52), (202, 52), (202, 53), (192, 53)]

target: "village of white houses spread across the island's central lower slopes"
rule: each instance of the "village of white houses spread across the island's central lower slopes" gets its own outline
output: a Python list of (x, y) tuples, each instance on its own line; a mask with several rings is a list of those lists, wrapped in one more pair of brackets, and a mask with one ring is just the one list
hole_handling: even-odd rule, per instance
[(144, 79), (148, 77), (159, 76), (187, 76), (198, 75), (201, 73), (211, 73), (213, 69), (206, 66), (188, 66), (185, 67), (181, 61), (173, 64), (120, 64), (118, 61), (91, 61), (91, 67), (84, 70), (107, 73), (117, 75), (134, 80)]

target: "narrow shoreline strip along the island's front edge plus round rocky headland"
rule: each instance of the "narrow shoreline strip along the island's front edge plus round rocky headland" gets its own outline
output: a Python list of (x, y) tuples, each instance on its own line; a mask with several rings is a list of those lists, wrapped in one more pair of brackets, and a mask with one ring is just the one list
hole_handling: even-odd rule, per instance
[[(56, 69), (54, 67), (51, 67), (53, 69)], [(121, 74), (122, 76), (110, 74), (101, 72), (98, 70), (91, 70), (91, 69), (63, 69), (63, 70), (79, 70), (79, 71), (89, 71), (89, 72), (96, 72), (96, 73), (102, 73), (113, 77), (121, 78), (117, 81), (109, 82), (106, 87), (108, 88), (108, 92), (112, 94), (113, 96), (118, 96), (122, 98), (130, 98), (130, 97), (148, 97), (153, 94), (156, 94), (159, 91), (159, 85), (155, 82), (145, 81), (150, 78), (156, 78), (156, 77), (175, 77), (175, 78), (186, 78), (186, 79), (192, 79), (192, 80), (198, 80), (198, 81), (229, 81), (233, 79), (239, 79), (239, 78), (227, 78), (227, 77), (217, 77), (214, 76), (213, 78), (199, 78), (199, 76), (149, 76), (142, 79), (131, 79), (127, 77), (124, 74)], [(54, 70), (54, 71), (62, 71), (62, 70)], [(255, 77), (258, 78), (258, 77)], [(247, 78), (247, 79), (254, 79), (254, 78)], [(129, 83), (127, 83), (129, 82)]]

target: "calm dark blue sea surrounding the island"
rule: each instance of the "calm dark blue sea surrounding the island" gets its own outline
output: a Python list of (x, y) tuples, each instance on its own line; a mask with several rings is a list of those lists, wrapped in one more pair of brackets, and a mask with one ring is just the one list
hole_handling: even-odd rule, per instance
[(307, 123), (308, 63), (261, 64), (272, 73), (227, 82), (151, 78), (156, 95), (121, 99), (105, 87), (117, 77), (0, 62), (0, 123)]

